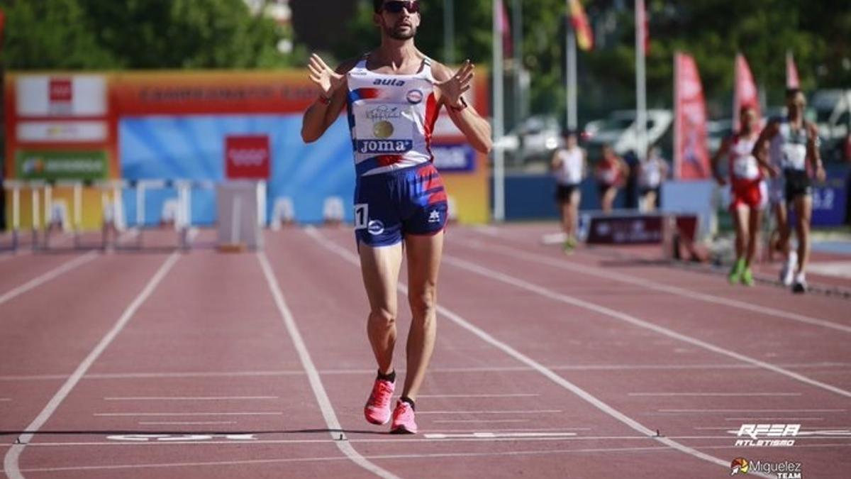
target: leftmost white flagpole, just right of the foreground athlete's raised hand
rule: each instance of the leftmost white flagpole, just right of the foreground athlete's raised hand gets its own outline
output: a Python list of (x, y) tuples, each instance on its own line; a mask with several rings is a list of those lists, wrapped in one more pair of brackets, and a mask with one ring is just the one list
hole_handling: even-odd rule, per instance
[(505, 220), (505, 154), (502, 151), (502, 132), (504, 105), (502, 97), (502, 32), (500, 32), (501, 0), (494, 3), (494, 66), (491, 74), (494, 78), (494, 221)]

